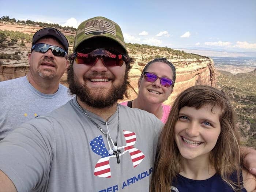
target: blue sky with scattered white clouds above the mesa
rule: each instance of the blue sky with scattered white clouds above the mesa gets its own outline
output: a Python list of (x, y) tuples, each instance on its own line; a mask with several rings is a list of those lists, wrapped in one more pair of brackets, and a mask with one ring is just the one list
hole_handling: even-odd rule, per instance
[(120, 25), (125, 42), (256, 52), (256, 0), (0, 0), (0, 5), (0, 16), (74, 27), (105, 16)]

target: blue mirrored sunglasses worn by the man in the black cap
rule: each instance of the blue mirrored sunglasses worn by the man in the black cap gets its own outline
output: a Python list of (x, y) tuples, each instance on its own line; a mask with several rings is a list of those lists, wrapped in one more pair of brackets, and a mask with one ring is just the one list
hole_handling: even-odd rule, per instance
[(32, 50), (35, 50), (36, 52), (40, 52), (40, 53), (46, 53), (46, 52), (48, 52), (49, 49), (52, 50), (52, 54), (54, 56), (64, 57), (66, 54), (65, 50), (58, 46), (52, 46), (52, 45), (39, 43), (39, 44), (35, 44), (32, 47)]

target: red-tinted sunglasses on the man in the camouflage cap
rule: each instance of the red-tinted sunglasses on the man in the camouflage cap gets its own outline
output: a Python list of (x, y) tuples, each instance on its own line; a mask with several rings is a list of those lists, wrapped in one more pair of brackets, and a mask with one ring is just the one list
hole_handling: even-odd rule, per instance
[(101, 58), (102, 63), (106, 67), (122, 66), (124, 62), (128, 61), (128, 58), (123, 54), (111, 53), (106, 49), (94, 49), (89, 53), (77, 52), (74, 53), (74, 57), (77, 64), (86, 64), (90, 66), (93, 66), (98, 58)]

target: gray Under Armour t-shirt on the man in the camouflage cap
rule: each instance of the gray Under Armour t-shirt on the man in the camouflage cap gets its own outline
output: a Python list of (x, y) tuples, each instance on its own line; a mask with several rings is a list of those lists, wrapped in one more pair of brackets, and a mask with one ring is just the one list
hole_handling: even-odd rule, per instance
[[(18, 192), (148, 192), (161, 121), (140, 109), (119, 106), (116, 155), (101, 131), (72, 99), (46, 116), (21, 125), (0, 142), (0, 169)], [(87, 111), (106, 131), (105, 121)], [(107, 121), (117, 135), (117, 112)]]

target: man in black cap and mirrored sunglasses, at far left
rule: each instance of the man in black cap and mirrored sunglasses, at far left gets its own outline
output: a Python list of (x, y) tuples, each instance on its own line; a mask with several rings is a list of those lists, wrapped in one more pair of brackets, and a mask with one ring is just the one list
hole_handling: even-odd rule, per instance
[(22, 78), (0, 82), (0, 140), (25, 121), (51, 112), (69, 99), (60, 78), (68, 66), (68, 41), (57, 29), (33, 36), (30, 71)]

